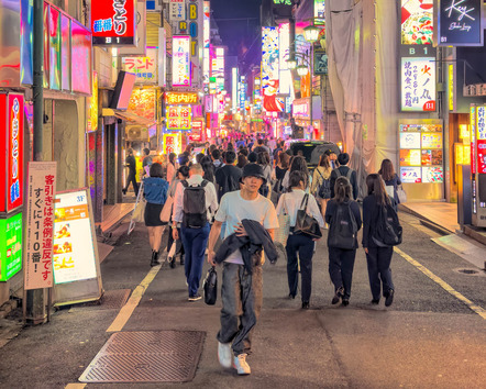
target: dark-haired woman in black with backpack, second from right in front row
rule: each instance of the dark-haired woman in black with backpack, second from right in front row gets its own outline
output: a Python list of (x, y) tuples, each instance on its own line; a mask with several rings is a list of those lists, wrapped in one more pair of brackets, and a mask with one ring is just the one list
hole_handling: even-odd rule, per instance
[[(361, 213), (360, 205), (356, 201), (351, 199), (351, 185), (346, 177), (339, 177), (335, 180), (334, 187), (335, 196), (328, 202), (325, 208), (325, 222), (329, 224), (328, 234), (328, 249), (329, 249), (329, 275), (334, 285), (334, 297), (331, 303), (336, 304), (342, 299), (344, 307), (349, 305), (351, 297), (351, 285), (353, 280), (354, 260), (356, 258), (357, 238), (354, 238), (354, 248), (344, 249), (331, 246), (331, 234), (335, 229), (333, 224), (336, 215), (338, 207), (347, 205), (351, 209), (354, 220), (356, 221), (357, 230), (361, 229)], [(345, 221), (351, 225), (351, 215), (344, 213)]]

